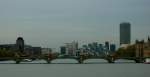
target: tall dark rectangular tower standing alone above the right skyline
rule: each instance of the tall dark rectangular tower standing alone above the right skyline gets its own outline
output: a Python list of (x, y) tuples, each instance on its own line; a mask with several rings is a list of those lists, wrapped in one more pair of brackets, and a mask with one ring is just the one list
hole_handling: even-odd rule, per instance
[(120, 45), (130, 44), (131, 40), (131, 24), (123, 22), (120, 24)]

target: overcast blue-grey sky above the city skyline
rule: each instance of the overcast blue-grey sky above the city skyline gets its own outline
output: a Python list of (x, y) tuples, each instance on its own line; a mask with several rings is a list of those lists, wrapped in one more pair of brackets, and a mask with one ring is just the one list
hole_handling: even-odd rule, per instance
[(131, 23), (132, 43), (150, 35), (150, 0), (0, 0), (0, 44), (23, 37), (32, 46), (109, 41)]

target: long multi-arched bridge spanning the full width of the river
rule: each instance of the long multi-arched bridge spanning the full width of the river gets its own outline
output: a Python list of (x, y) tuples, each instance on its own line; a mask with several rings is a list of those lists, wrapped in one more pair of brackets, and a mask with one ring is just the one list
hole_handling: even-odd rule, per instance
[(143, 63), (145, 61), (146, 58), (150, 58), (150, 57), (113, 57), (113, 56), (58, 56), (58, 57), (51, 57), (51, 56), (40, 56), (40, 57), (4, 57), (4, 58), (0, 58), (1, 60), (13, 60), (16, 62), (16, 64), (19, 64), (20, 62), (22, 62), (24, 59), (42, 59), (45, 60), (48, 64), (50, 64), (53, 60), (56, 59), (74, 59), (76, 60), (79, 64), (84, 63), (85, 60), (88, 59), (104, 59), (106, 60), (108, 63), (115, 63), (116, 60), (119, 59), (125, 59), (125, 60), (132, 60), (135, 63)]

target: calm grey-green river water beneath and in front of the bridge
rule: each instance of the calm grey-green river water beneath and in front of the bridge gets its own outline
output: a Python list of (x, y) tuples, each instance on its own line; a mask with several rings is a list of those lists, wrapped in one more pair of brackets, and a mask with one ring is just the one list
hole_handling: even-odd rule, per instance
[[(87, 60), (76, 64), (74, 60), (0, 62), (0, 77), (150, 77), (149, 64), (136, 64), (120, 60), (109, 64), (104, 60)], [(45, 63), (45, 64), (43, 64)]]

